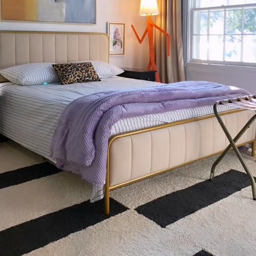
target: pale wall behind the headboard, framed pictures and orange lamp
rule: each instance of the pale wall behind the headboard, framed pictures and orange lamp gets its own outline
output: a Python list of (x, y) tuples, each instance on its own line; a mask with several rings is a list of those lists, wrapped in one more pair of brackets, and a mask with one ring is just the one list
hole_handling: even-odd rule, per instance
[(139, 15), (140, 0), (97, 0), (97, 25), (74, 25), (44, 22), (6, 22), (0, 21), (0, 30), (14, 31), (74, 31), (107, 33), (107, 22), (125, 23), (125, 54), (110, 56), (109, 62), (118, 67), (147, 68), (147, 38), (140, 45), (131, 25), (142, 36), (147, 17)]

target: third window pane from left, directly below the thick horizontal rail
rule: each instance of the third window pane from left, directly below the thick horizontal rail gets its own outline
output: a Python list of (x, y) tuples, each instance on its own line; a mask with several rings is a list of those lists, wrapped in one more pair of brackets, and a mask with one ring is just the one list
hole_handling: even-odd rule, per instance
[(229, 9), (226, 13), (226, 34), (241, 34), (242, 9)]

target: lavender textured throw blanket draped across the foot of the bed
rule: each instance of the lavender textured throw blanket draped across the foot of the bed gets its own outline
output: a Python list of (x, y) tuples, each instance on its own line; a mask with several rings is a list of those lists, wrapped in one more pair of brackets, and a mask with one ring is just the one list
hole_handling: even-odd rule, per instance
[(59, 168), (103, 186), (109, 134), (119, 119), (213, 105), (217, 100), (241, 95), (249, 92), (204, 81), (93, 93), (63, 110), (52, 138), (51, 157)]

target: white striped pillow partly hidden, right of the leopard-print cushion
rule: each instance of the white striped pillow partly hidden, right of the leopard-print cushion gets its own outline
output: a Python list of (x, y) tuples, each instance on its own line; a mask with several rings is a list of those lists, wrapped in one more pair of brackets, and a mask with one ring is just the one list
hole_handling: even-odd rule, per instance
[(79, 62), (91, 62), (99, 78), (108, 78), (112, 76), (117, 76), (124, 72), (123, 69), (118, 68), (113, 64), (109, 64), (107, 62), (103, 62), (100, 60), (79, 60), (79, 61), (73, 61), (70, 63), (79, 63)]

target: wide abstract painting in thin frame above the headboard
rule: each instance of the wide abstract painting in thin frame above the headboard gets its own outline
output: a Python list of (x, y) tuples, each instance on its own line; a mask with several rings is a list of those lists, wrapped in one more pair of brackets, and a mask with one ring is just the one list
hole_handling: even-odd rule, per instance
[(2, 0), (1, 19), (96, 24), (96, 0)]

